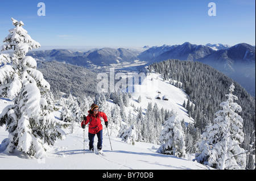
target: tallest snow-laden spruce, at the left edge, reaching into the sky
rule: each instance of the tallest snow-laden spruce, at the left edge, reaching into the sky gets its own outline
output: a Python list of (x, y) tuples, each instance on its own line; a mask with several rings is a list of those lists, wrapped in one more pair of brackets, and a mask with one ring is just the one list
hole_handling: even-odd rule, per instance
[(0, 55), (0, 95), (14, 99), (14, 104), (0, 115), (0, 126), (6, 125), (9, 132), (5, 151), (18, 150), (44, 158), (47, 145), (53, 145), (65, 133), (42, 97), (49, 91), (49, 83), (36, 70), (35, 59), (26, 57), (28, 50), (39, 48), (40, 44), (23, 29), (23, 22), (11, 20), (15, 28), (9, 30), (1, 50), (13, 51)]

